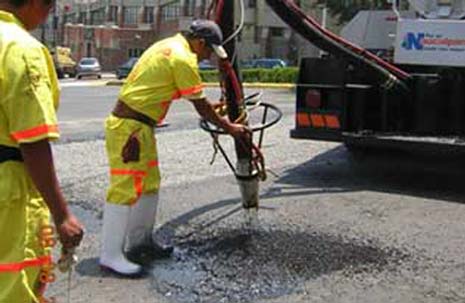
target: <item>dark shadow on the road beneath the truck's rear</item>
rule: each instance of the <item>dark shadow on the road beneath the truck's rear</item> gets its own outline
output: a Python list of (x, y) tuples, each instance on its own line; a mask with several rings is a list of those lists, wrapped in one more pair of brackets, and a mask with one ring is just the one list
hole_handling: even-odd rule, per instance
[(274, 180), (262, 199), (321, 193), (376, 191), (463, 203), (465, 159), (336, 147)]

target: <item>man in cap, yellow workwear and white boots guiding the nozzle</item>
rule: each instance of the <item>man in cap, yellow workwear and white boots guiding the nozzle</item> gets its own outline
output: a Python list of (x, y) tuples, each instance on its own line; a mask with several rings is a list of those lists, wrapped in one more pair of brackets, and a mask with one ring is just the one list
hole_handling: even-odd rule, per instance
[(105, 124), (110, 187), (103, 219), (100, 264), (123, 275), (137, 275), (141, 266), (125, 255), (137, 247), (170, 254), (152, 239), (160, 186), (154, 127), (173, 100), (190, 100), (205, 119), (242, 139), (248, 130), (220, 117), (207, 101), (198, 62), (215, 53), (227, 54), (217, 24), (196, 20), (190, 28), (147, 49), (129, 74)]

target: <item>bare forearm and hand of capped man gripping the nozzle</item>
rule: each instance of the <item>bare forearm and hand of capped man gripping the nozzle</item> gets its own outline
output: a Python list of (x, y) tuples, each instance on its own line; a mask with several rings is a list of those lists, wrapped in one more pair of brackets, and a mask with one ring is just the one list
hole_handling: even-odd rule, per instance
[(218, 115), (207, 99), (203, 98), (190, 101), (194, 104), (196, 111), (202, 118), (224, 129), (231, 136), (238, 139), (245, 139), (246, 134), (249, 134), (250, 131), (245, 125), (231, 123), (228, 119)]

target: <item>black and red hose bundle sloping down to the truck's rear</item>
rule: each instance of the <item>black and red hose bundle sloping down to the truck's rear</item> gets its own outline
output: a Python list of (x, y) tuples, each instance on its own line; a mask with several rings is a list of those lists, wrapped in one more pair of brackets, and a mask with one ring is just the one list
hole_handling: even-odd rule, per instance
[(284, 22), (320, 49), (368, 67), (375, 72), (376, 81), (387, 88), (408, 90), (405, 84), (411, 77), (408, 73), (322, 28), (293, 1), (266, 0), (266, 2)]

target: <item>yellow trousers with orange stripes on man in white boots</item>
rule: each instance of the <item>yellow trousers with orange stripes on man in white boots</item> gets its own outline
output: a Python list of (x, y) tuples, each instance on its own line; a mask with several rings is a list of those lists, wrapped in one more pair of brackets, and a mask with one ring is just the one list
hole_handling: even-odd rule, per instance
[[(137, 162), (123, 162), (123, 147), (137, 133), (140, 154)], [(136, 120), (110, 115), (105, 121), (105, 141), (110, 165), (107, 201), (132, 205), (142, 194), (156, 193), (160, 187), (160, 171), (156, 140), (152, 127)]]

